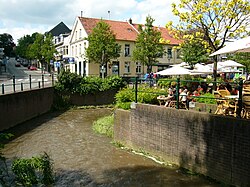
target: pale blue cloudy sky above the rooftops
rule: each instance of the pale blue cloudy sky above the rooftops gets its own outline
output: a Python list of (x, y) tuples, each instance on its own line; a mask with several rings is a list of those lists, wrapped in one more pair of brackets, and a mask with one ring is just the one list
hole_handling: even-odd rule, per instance
[(19, 38), (45, 33), (60, 22), (72, 29), (76, 17), (103, 18), (145, 23), (150, 15), (155, 26), (177, 22), (171, 4), (178, 0), (0, 0), (0, 34)]

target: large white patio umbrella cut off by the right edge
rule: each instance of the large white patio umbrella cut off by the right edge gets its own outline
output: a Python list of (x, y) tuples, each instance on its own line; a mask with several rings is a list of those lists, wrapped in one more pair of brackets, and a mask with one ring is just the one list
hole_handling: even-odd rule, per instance
[(231, 42), (209, 56), (234, 52), (250, 52), (250, 36)]

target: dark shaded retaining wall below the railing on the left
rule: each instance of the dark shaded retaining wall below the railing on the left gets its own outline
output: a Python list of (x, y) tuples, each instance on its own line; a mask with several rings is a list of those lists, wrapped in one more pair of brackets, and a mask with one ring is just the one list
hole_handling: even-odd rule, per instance
[(52, 87), (1, 95), (0, 131), (48, 112), (53, 96)]

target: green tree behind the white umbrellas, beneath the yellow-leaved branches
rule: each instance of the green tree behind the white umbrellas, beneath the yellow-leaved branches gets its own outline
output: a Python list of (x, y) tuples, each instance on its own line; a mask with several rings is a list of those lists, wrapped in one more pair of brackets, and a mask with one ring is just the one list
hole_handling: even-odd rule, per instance
[(196, 63), (206, 62), (209, 58), (203, 41), (199, 38), (185, 40), (181, 44), (182, 60), (187, 62), (192, 68)]

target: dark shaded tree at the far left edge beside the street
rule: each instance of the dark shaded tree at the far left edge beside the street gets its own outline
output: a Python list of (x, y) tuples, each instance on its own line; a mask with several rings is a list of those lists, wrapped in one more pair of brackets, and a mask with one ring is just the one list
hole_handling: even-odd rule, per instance
[(14, 48), (15, 43), (13, 42), (13, 38), (10, 34), (4, 33), (0, 34), (0, 48), (4, 48), (4, 54), (6, 56), (14, 56)]

